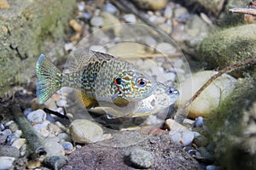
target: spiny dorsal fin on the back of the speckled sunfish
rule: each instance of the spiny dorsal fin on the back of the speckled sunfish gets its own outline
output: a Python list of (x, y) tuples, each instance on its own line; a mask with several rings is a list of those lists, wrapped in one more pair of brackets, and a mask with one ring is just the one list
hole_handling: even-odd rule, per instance
[(73, 53), (70, 55), (73, 56), (73, 60), (69, 63), (68, 67), (70, 71), (79, 71), (84, 66), (92, 62), (116, 59), (112, 55), (103, 54), (101, 52), (96, 52), (84, 48), (74, 49)]

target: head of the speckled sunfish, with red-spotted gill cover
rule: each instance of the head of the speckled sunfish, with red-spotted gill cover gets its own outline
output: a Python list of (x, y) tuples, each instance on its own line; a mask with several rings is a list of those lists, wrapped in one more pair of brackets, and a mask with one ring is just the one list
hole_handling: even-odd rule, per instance
[(154, 92), (156, 82), (140, 71), (123, 71), (113, 78), (115, 94), (132, 101), (147, 98)]

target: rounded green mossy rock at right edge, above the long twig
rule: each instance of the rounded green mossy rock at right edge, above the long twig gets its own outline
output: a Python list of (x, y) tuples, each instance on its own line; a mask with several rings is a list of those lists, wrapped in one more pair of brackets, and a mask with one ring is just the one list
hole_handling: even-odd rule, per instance
[[(207, 62), (210, 69), (223, 69), (229, 65), (256, 57), (256, 25), (236, 26), (209, 34), (196, 49), (196, 57)], [(233, 71), (241, 77), (243, 72), (253, 73), (255, 65), (247, 70)]]

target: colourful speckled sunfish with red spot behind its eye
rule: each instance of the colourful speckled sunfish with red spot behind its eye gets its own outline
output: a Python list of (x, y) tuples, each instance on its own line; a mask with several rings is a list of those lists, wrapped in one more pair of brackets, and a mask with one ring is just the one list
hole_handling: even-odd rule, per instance
[(44, 104), (62, 87), (74, 88), (83, 105), (90, 109), (105, 102), (117, 107), (135, 105), (154, 93), (157, 82), (136, 65), (110, 54), (78, 48), (70, 73), (62, 73), (44, 54), (38, 57), (36, 95)]

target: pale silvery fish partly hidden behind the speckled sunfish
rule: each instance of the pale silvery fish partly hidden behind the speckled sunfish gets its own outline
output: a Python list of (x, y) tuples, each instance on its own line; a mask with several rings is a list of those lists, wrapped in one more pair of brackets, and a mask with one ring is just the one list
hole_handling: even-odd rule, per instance
[(135, 102), (136, 105), (133, 108), (130, 107), (128, 111), (109, 107), (109, 105), (102, 105), (101, 108), (93, 108), (90, 111), (107, 114), (108, 119), (149, 116), (168, 108), (177, 101), (178, 97), (179, 92), (176, 88), (157, 82), (157, 88), (154, 89), (153, 94)]

